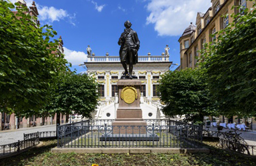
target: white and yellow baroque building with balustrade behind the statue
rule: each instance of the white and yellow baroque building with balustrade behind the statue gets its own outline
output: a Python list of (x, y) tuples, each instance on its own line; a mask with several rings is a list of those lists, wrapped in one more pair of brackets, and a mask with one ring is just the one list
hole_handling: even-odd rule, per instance
[[(88, 62), (84, 65), (87, 72), (96, 78), (100, 84), (98, 93), (100, 96), (100, 105), (92, 115), (95, 119), (115, 119), (116, 109), (118, 108), (118, 87), (117, 82), (124, 72), (120, 63), (119, 56), (95, 56), (94, 53), (88, 56)], [(169, 61), (169, 55), (139, 56), (139, 62), (133, 68), (133, 75), (138, 76), (141, 81), (141, 108), (144, 119), (164, 118), (161, 111), (159, 92), (157, 91), (158, 81), (161, 74), (169, 71), (172, 62)]]

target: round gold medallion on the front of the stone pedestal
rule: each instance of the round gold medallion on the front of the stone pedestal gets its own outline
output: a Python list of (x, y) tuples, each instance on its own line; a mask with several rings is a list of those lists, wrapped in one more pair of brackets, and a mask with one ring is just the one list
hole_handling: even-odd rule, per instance
[(127, 104), (133, 103), (135, 100), (137, 100), (137, 98), (137, 90), (134, 87), (127, 86), (121, 92), (121, 99), (124, 100)]

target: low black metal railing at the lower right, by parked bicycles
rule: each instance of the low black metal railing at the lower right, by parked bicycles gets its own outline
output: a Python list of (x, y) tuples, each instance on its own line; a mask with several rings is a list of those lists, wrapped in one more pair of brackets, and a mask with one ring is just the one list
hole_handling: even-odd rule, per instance
[(230, 149), (238, 153), (256, 156), (256, 146), (242, 144), (240, 142), (234, 142), (226, 139), (219, 138), (219, 147), (222, 149)]

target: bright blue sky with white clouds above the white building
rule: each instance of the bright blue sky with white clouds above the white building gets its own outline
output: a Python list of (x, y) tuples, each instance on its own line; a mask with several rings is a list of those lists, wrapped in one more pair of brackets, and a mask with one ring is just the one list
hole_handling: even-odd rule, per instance
[[(15, 2), (16, 0), (11, 0)], [(31, 6), (33, 0), (25, 0)], [(160, 55), (170, 47), (170, 61), (180, 64), (179, 37), (211, 0), (35, 0), (41, 24), (51, 24), (64, 42), (66, 59), (77, 72), (91, 46), (96, 56), (118, 55), (117, 41), (129, 20), (141, 41), (140, 55)], [(176, 66), (174, 66), (175, 69)]]

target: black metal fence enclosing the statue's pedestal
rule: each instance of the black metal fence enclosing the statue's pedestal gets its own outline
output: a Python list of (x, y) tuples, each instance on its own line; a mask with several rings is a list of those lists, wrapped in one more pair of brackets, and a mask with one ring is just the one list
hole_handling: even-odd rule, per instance
[(201, 148), (195, 125), (59, 126), (59, 148)]

